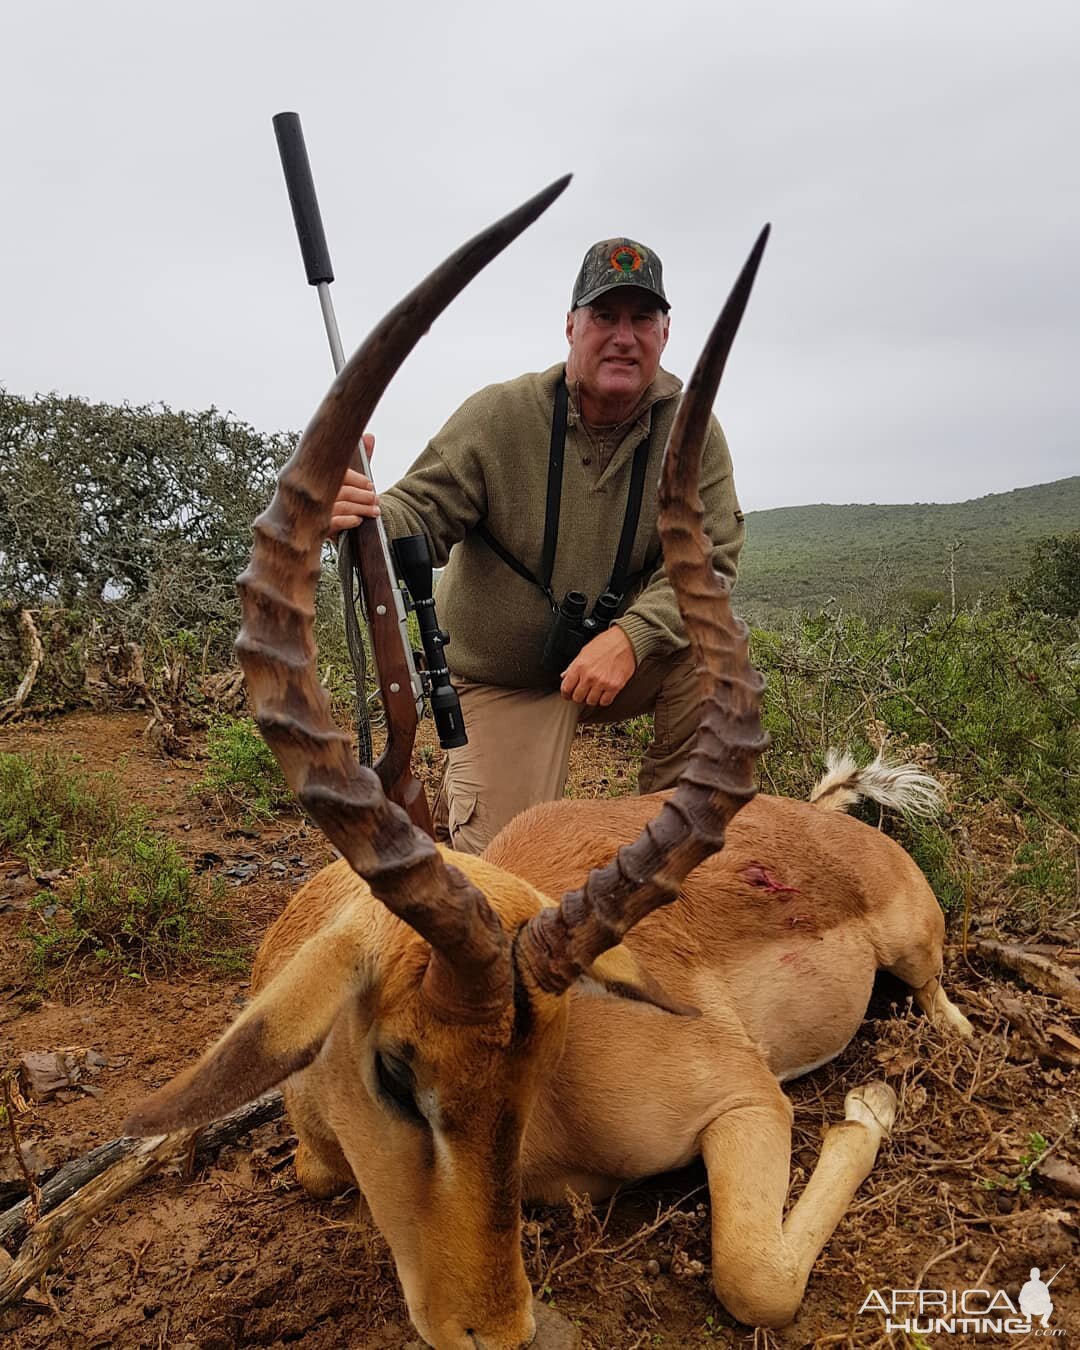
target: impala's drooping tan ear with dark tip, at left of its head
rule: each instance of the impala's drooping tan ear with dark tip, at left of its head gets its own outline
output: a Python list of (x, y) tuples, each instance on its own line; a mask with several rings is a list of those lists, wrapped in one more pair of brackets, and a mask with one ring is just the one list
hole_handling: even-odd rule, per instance
[(374, 986), (371, 950), (355, 913), (316, 933), (197, 1064), (135, 1107), (124, 1134), (197, 1129), (306, 1068), (346, 999)]

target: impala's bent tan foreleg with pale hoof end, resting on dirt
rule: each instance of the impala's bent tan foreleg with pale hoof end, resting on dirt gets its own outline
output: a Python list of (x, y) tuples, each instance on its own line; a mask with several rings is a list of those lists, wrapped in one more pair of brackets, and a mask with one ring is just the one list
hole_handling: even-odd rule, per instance
[(783, 1218), (791, 1174), (791, 1106), (778, 1084), (726, 1111), (705, 1133), (713, 1208), (713, 1287), (749, 1326), (786, 1326), (806, 1281), (878, 1157), (896, 1108), (884, 1083), (849, 1092), (810, 1181)]

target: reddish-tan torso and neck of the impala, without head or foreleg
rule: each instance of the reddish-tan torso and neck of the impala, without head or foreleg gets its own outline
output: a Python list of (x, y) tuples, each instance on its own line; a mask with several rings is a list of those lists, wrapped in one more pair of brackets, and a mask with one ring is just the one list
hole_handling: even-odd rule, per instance
[[(486, 856), (537, 888), (566, 887), (633, 838), (657, 805), (539, 806)], [(749, 883), (751, 869), (787, 888)], [(586, 1173), (597, 1197), (690, 1161), (701, 1131), (726, 1110), (733, 1079), (761, 1064), (774, 1079), (791, 1077), (838, 1054), (861, 1022), (875, 971), (925, 984), (941, 971), (944, 932), (933, 892), (892, 840), (845, 815), (757, 796), (732, 822), (724, 850), (687, 878), (678, 905), (626, 938), (663, 988), (702, 1018), (574, 995), (559, 1079), (541, 1094), (544, 1123), (526, 1139), (526, 1195), (558, 1199), (563, 1169)]]

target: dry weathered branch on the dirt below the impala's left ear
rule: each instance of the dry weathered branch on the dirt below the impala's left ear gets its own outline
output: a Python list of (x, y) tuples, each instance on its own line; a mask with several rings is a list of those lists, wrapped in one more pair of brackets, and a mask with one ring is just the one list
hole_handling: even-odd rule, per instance
[[(232, 1111), (202, 1131), (177, 1131), (163, 1138), (159, 1135), (155, 1139), (111, 1139), (81, 1158), (68, 1162), (40, 1189), (40, 1212), (47, 1218), (32, 1226), (18, 1261), (8, 1268), (3, 1281), (0, 1281), (0, 1307), (4, 1305), (5, 1299), (18, 1297), (18, 1293), (46, 1269), (45, 1265), (34, 1265), (27, 1284), (20, 1284), (16, 1292), (11, 1292), (9, 1281), (15, 1278), (14, 1272), (16, 1268), (22, 1268), (24, 1260), (27, 1262), (36, 1261), (38, 1254), (45, 1253), (46, 1265), (51, 1262), (72, 1242), (90, 1215), (97, 1214), (111, 1200), (119, 1199), (138, 1185), (144, 1176), (151, 1176), (159, 1166), (181, 1153), (196, 1133), (198, 1137), (194, 1141), (194, 1161), (200, 1164), (225, 1143), (247, 1134), (248, 1130), (277, 1119), (284, 1110), (281, 1094), (267, 1092), (258, 1102)], [(170, 1139), (180, 1142), (170, 1146)], [(138, 1158), (132, 1162), (136, 1154)], [(88, 1183), (93, 1183), (93, 1187)], [(20, 1200), (19, 1204), (0, 1215), (0, 1242), (20, 1241), (27, 1230), (28, 1204), (28, 1200)], [(84, 1212), (84, 1206), (92, 1206), (92, 1208), (86, 1208)], [(61, 1210), (63, 1211), (62, 1216)], [(54, 1212), (50, 1214), (50, 1211)], [(77, 1226), (76, 1220), (78, 1220)], [(18, 1278), (22, 1280), (22, 1276)]]

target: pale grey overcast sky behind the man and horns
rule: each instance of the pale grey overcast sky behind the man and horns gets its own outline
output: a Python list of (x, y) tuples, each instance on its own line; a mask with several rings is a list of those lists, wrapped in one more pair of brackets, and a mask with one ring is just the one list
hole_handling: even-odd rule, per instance
[(763, 221), (717, 412), (747, 509), (1080, 471), (1080, 7), (1040, 0), (9, 4), (0, 383), (301, 429), (329, 383), (270, 119), (300, 112), (346, 348), (574, 182), (373, 421), (387, 486), (562, 359), (589, 243), (655, 248), (686, 375)]

